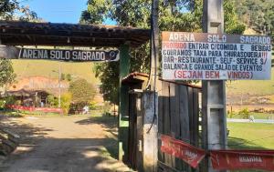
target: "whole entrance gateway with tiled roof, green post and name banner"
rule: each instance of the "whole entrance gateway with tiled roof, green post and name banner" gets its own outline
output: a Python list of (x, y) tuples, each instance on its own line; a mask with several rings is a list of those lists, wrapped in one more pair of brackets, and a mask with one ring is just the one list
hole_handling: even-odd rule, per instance
[[(130, 72), (130, 48), (150, 40), (151, 31), (111, 25), (68, 25), (0, 21), (0, 57), (88, 62), (120, 60), (120, 83)], [(83, 46), (94, 50), (27, 49), (20, 46)], [(120, 85), (119, 159), (127, 160), (128, 86)]]

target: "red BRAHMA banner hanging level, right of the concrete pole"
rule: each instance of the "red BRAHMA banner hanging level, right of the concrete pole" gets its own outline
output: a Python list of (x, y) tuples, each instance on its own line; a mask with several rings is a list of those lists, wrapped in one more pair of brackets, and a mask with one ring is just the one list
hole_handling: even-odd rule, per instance
[(211, 150), (216, 170), (263, 169), (274, 171), (273, 150)]

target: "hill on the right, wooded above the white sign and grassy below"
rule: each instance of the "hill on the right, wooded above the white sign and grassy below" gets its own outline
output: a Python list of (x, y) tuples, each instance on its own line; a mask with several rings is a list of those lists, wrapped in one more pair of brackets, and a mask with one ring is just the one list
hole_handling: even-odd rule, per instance
[[(274, 2), (273, 0), (234, 0), (238, 18), (247, 25), (245, 35), (271, 35), (274, 37)], [(274, 59), (274, 56), (272, 56)], [(251, 103), (264, 96), (269, 103), (274, 103), (274, 68), (271, 80), (267, 81), (232, 81), (227, 82), (227, 102)]]

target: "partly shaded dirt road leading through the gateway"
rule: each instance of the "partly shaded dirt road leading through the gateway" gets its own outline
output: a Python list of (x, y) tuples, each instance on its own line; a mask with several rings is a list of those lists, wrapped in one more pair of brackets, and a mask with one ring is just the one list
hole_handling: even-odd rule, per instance
[[(20, 147), (0, 165), (5, 172), (130, 171), (118, 162), (115, 120), (110, 117), (1, 117), (21, 135)], [(114, 121), (114, 122), (113, 122)]]

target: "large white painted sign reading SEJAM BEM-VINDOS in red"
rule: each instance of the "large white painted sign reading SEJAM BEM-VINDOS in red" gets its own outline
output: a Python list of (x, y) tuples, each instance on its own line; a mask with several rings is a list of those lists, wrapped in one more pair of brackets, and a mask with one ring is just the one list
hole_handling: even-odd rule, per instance
[(269, 36), (163, 32), (162, 49), (163, 79), (271, 78)]

